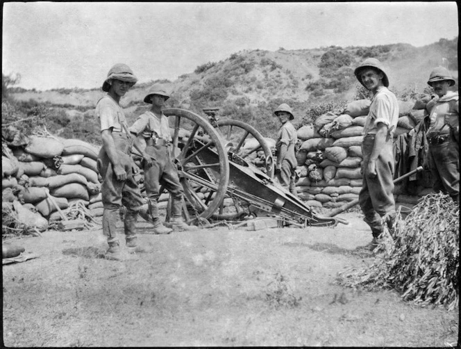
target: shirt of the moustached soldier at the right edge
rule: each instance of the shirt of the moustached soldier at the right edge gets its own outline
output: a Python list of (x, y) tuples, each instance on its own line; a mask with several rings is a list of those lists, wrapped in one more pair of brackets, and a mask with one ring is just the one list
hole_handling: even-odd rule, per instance
[(435, 97), (428, 103), (428, 111), (430, 112), (430, 124), (428, 135), (440, 134), (446, 135), (450, 133), (449, 127), (444, 127), (444, 124), (449, 124), (455, 129), (459, 129), (460, 125), (460, 96), (458, 92), (449, 91), (442, 97)]

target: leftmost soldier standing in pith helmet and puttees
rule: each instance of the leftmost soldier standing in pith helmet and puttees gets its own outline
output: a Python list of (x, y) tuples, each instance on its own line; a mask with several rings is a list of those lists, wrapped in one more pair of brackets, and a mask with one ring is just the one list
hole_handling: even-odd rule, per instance
[(137, 245), (135, 223), (137, 213), (144, 200), (133, 178), (131, 147), (133, 142), (128, 133), (124, 111), (119, 102), (136, 83), (133, 71), (125, 64), (118, 63), (110, 68), (103, 91), (106, 96), (99, 99), (95, 115), (101, 124), (103, 146), (98, 156), (98, 170), (103, 181), (101, 194), (103, 202), (103, 234), (108, 238), (109, 249), (106, 258), (121, 260), (117, 238), (117, 217), (121, 205), (126, 207), (124, 232), (128, 252), (141, 252)]

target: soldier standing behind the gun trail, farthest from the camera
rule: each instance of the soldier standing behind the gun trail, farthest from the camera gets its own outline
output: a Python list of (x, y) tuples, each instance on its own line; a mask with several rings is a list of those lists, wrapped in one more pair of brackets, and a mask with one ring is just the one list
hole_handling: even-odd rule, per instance
[(292, 113), (292, 108), (288, 104), (280, 104), (274, 114), (280, 120), (282, 127), (277, 134), (276, 142), (276, 178), (283, 186), (294, 196), (298, 196), (296, 193), (296, 184), (294, 183), (296, 178), (296, 165), (298, 161), (296, 160), (296, 154), (294, 147), (298, 141), (296, 136), (296, 129), (294, 129), (293, 124), (290, 120), (294, 119)]

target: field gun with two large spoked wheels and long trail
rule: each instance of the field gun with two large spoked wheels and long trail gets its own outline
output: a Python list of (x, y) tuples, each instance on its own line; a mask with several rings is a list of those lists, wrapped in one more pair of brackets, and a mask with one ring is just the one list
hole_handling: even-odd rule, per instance
[[(217, 111), (205, 109), (208, 120), (185, 109), (163, 111), (174, 129), (173, 154), (184, 188), (187, 222), (275, 216), (285, 225), (299, 227), (348, 224), (341, 218), (319, 216), (276, 183), (266, 139), (244, 122), (218, 120)], [(262, 169), (247, 159), (251, 152), (244, 145), (249, 140), (257, 144), (253, 149), (264, 152)]]

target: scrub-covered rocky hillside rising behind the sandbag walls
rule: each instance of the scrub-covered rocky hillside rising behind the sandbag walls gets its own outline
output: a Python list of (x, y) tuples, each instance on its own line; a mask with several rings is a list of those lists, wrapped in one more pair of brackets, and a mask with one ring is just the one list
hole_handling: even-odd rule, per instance
[[(221, 117), (233, 117), (266, 131), (276, 129), (271, 111), (287, 102), (302, 122), (309, 109), (319, 103), (337, 103), (366, 97), (353, 75), (354, 68), (367, 57), (380, 59), (389, 69), (389, 88), (401, 99), (424, 92), (430, 70), (449, 67), (458, 80), (458, 38), (441, 39), (424, 47), (388, 44), (374, 47), (322, 47), (319, 49), (240, 51), (226, 60), (203, 63), (194, 72), (166, 83), (172, 91), (168, 106), (202, 113), (206, 107), (219, 107)], [(102, 83), (102, 81), (101, 81)], [(147, 106), (142, 102), (151, 83), (137, 84), (121, 103), (128, 120)], [(455, 88), (458, 88), (455, 86)], [(13, 88), (17, 101), (31, 100), (65, 108), (67, 117), (90, 117), (103, 95), (92, 90), (56, 89), (47, 91)], [(262, 132), (263, 133), (263, 132)]]

